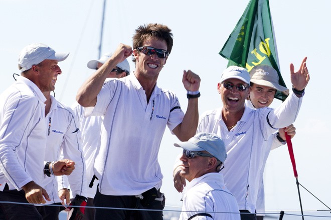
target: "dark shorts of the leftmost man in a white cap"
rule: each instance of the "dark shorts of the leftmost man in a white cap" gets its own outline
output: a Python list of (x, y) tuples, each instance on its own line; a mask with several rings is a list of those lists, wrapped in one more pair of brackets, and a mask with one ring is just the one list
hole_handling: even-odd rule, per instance
[[(27, 204), (4, 203), (5, 201)], [(0, 191), (0, 219), (42, 220), (43, 217), (38, 212), (36, 206), (28, 202), (24, 190), (8, 190), (5, 187), (4, 191)]]

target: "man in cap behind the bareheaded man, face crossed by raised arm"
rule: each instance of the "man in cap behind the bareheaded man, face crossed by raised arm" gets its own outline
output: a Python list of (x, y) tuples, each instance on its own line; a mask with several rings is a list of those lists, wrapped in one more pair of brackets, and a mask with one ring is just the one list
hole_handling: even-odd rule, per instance
[[(97, 70), (100, 68), (110, 57), (112, 53), (107, 52), (101, 56), (98, 60), (90, 60), (87, 63), (87, 67), (90, 69)], [(121, 78), (130, 74), (130, 65), (127, 59), (124, 59), (122, 62), (117, 63), (115, 68), (110, 70), (108, 77), (105, 80), (105, 83), (112, 78)], [(82, 130), (82, 146), (84, 157), (86, 161), (86, 171), (87, 171), (87, 206), (94, 206), (93, 199), (96, 192), (96, 187), (98, 185), (98, 179), (95, 178), (93, 166), (95, 159), (95, 152), (97, 146), (100, 144), (100, 134), (101, 125), (103, 116), (90, 116), (84, 117), (84, 108), (75, 102), (72, 106), (77, 118), (79, 127)], [(85, 208), (85, 214), (82, 220), (92, 220), (94, 219), (95, 208)]]

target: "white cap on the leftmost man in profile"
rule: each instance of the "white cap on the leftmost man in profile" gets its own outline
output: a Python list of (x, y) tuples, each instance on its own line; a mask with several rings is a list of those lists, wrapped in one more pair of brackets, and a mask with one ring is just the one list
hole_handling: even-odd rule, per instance
[(21, 72), (28, 70), (32, 65), (37, 65), (45, 59), (65, 60), (69, 52), (55, 52), (54, 49), (43, 43), (31, 43), (24, 47), (19, 54)]

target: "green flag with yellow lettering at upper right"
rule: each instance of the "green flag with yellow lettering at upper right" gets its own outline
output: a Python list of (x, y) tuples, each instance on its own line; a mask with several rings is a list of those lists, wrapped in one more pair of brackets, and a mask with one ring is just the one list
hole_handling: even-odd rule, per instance
[[(280, 74), (277, 47), (274, 40), (269, 0), (250, 0), (236, 27), (220, 51), (229, 60), (250, 71), (255, 65), (266, 64), (278, 72), (279, 84), (285, 86)], [(285, 100), (279, 91), (275, 98)]]

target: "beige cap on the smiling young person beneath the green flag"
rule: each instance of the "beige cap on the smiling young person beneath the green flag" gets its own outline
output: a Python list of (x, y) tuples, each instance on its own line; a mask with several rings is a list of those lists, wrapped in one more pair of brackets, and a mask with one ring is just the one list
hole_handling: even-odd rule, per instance
[(278, 73), (270, 65), (256, 65), (251, 69), (249, 74), (251, 76), (251, 82), (272, 87), (288, 95), (289, 89), (278, 83)]

